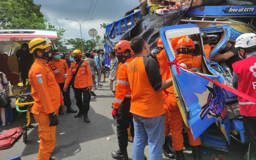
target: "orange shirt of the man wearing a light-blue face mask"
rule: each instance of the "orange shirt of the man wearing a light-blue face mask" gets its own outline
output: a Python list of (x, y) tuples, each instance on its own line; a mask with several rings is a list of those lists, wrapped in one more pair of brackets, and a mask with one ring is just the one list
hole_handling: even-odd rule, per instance
[(59, 69), (58, 71), (61, 71), (61, 73), (56, 74), (55, 77), (58, 81), (58, 83), (64, 83), (66, 78), (64, 78), (64, 74), (68, 73), (68, 64), (66, 63), (65, 60), (59, 59), (55, 60), (53, 59), (52, 61), (48, 62), (48, 65), (50, 65), (50, 68), (54, 71), (56, 69)]

